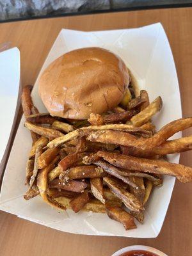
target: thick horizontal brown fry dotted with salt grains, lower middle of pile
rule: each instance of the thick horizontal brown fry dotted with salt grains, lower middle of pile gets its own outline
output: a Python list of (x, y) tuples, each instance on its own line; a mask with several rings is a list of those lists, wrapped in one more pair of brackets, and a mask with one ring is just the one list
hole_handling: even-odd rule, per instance
[(85, 179), (105, 177), (106, 172), (94, 165), (81, 165), (72, 167), (65, 173), (64, 179)]

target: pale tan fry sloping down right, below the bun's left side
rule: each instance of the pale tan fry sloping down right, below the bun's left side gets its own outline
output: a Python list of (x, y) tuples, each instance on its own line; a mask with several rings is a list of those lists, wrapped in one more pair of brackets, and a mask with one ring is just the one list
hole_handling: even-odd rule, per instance
[(29, 122), (25, 122), (25, 127), (41, 136), (49, 138), (50, 140), (54, 140), (55, 138), (63, 136), (63, 133), (59, 131), (47, 127), (42, 127), (40, 125), (31, 124)]

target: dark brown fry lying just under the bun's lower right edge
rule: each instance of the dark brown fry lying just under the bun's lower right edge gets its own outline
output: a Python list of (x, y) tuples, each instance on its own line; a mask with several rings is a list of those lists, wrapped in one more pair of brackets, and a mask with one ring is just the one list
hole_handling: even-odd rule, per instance
[(104, 116), (104, 122), (108, 123), (115, 123), (120, 122), (123, 120), (130, 120), (132, 116), (136, 115), (138, 112), (136, 110), (131, 111), (124, 111), (122, 113), (112, 113)]

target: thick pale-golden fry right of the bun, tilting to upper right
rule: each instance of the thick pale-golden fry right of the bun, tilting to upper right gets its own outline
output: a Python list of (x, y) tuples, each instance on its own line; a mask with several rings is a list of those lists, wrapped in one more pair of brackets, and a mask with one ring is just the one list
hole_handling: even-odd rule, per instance
[(143, 109), (137, 115), (132, 116), (131, 123), (134, 126), (141, 126), (147, 123), (153, 115), (161, 110), (162, 104), (161, 97), (157, 97), (147, 108)]

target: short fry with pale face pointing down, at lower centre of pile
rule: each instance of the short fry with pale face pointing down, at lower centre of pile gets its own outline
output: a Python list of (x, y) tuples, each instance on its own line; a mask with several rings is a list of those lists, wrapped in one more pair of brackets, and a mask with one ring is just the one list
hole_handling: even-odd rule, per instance
[(92, 178), (90, 179), (90, 184), (93, 196), (102, 202), (102, 204), (105, 204), (106, 200), (104, 198), (102, 179)]

